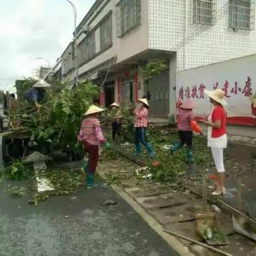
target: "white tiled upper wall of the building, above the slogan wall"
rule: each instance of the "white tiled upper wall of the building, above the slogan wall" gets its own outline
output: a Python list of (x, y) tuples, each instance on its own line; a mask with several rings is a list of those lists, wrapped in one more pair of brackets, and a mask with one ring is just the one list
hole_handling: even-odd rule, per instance
[[(217, 11), (228, 0), (217, 0)], [(186, 34), (201, 25), (193, 24), (193, 0), (149, 0), (149, 48), (171, 50)], [(256, 53), (255, 30), (228, 29), (228, 11), (217, 25), (204, 31), (178, 51), (177, 71), (209, 65)], [(187, 49), (186, 49), (187, 48)], [(186, 53), (186, 55), (185, 55)]]

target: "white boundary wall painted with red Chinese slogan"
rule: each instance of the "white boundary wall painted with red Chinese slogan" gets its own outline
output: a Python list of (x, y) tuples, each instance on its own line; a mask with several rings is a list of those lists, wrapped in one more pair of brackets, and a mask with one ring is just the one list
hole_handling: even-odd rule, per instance
[[(254, 117), (251, 113), (251, 101), (246, 93), (247, 90), (245, 90), (248, 77), (251, 79), (251, 92), (254, 93), (256, 91), (255, 54), (180, 71), (176, 77), (177, 99), (179, 98), (179, 90), (183, 89), (184, 98), (180, 100), (186, 100), (188, 94), (187, 97), (185, 94), (189, 89), (189, 97), (193, 98), (197, 105), (196, 114), (198, 116), (207, 116), (210, 113), (211, 105), (209, 97), (205, 95), (201, 97), (200, 87), (204, 85), (205, 89), (213, 90), (214, 85), (218, 84), (218, 89), (223, 89), (223, 85), (227, 84), (227, 97), (225, 100), (228, 103), (226, 108), (228, 118), (245, 117), (253, 119), (252, 123), (254, 123)], [(194, 94), (192, 93), (193, 88), (197, 90)]]

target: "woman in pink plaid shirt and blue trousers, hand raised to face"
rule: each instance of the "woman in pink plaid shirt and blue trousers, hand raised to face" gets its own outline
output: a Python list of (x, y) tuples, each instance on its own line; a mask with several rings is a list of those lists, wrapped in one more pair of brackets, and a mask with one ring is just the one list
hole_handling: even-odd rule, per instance
[(135, 149), (136, 157), (141, 154), (141, 144), (145, 146), (150, 157), (154, 157), (154, 149), (147, 140), (146, 130), (148, 127), (148, 108), (147, 99), (139, 99), (137, 108), (134, 110), (135, 120)]

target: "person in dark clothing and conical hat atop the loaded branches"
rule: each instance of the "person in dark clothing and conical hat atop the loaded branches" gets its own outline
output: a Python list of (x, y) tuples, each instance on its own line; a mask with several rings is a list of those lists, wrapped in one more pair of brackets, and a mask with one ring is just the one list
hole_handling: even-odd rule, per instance
[(40, 79), (31, 89), (27, 90), (23, 97), (28, 102), (33, 102), (37, 109), (41, 108), (39, 102), (45, 97), (45, 88), (49, 87), (50, 84), (46, 83), (43, 79)]

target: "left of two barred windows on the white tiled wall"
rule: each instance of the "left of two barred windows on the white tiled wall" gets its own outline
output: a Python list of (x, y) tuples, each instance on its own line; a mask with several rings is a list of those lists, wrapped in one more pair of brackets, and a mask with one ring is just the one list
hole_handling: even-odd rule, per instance
[(200, 24), (213, 23), (213, 5), (215, 0), (194, 0), (193, 22)]

